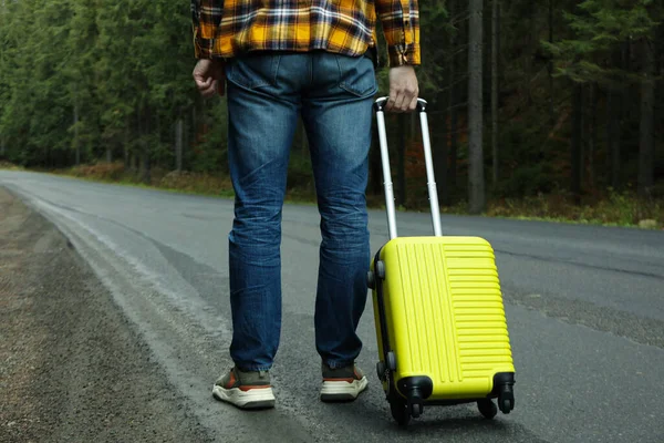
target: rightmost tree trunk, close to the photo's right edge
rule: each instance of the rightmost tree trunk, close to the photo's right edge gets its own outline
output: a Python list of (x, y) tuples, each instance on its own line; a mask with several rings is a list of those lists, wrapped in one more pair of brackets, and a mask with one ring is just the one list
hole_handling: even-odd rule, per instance
[(641, 80), (641, 124), (639, 146), (639, 195), (650, 197), (654, 185), (655, 151), (655, 84), (653, 73), (655, 59), (653, 42), (643, 39), (643, 79)]

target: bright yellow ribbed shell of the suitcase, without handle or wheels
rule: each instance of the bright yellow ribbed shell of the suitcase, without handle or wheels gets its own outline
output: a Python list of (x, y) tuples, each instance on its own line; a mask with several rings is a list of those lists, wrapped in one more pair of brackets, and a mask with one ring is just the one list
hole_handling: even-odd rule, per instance
[(513, 371), (487, 241), (402, 238), (393, 251), (392, 259), (386, 257), (387, 298), (400, 377), (427, 374), (435, 385), (460, 383), (477, 390), (489, 389), (496, 372)]

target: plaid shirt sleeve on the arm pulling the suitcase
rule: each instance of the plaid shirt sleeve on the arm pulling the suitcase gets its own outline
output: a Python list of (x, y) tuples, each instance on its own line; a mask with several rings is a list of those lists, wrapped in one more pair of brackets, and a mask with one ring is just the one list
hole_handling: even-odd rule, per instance
[(376, 0), (390, 66), (421, 64), (418, 0)]

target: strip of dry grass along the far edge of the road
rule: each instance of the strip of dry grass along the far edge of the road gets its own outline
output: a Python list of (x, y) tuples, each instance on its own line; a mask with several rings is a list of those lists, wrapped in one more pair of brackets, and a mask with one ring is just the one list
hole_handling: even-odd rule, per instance
[[(22, 169), (8, 163), (0, 163), (0, 168)], [(158, 188), (177, 193), (227, 198), (234, 196), (230, 178), (218, 174), (168, 172), (153, 168), (149, 178), (143, 181), (138, 171), (125, 171), (122, 163), (97, 163), (50, 171), (50, 173), (94, 182)], [(411, 199), (408, 210), (429, 210), (426, 196), (419, 197)], [(314, 204), (315, 194), (310, 186), (290, 187), (287, 192), (287, 202)], [(385, 204), (385, 197), (383, 194), (370, 194), (367, 195), (367, 204), (372, 208), (382, 208)], [(405, 208), (401, 206), (400, 210), (405, 210)], [(443, 214), (468, 214), (465, 202), (444, 206), (440, 210)], [(489, 199), (484, 215), (499, 218), (663, 229), (664, 199), (644, 200), (633, 192), (618, 193), (609, 190), (602, 195), (585, 197), (581, 205), (575, 205), (572, 198), (564, 193), (540, 194), (525, 198)]]

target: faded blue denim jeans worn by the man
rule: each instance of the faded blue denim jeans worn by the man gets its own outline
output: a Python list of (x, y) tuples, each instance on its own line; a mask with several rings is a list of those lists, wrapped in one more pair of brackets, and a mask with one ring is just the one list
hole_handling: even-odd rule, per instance
[(301, 116), (321, 215), (315, 346), (332, 368), (351, 364), (362, 348), (356, 329), (367, 298), (373, 62), (326, 52), (266, 52), (229, 61), (226, 75), (236, 193), (228, 237), (230, 356), (242, 370), (268, 370), (279, 347), (281, 210)]

